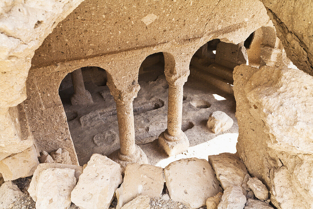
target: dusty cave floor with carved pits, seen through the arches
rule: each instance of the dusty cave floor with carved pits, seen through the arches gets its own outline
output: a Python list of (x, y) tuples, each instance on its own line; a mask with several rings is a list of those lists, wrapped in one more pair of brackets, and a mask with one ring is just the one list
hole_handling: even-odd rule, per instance
[[(139, 84), (141, 89), (134, 99), (136, 144), (144, 150), (151, 164), (165, 167), (179, 158), (208, 159), (211, 154), (236, 152), (238, 124), (233, 96), (223, 94), (210, 84), (188, 78), (184, 85), (182, 130), (190, 141), (190, 148), (168, 158), (156, 140), (167, 127), (168, 85), (164, 64), (144, 67), (139, 72)], [(92, 105), (72, 106), (69, 97), (73, 88), (60, 92), (80, 165), (87, 163), (93, 153), (109, 155), (119, 148), (116, 106), (109, 88), (94, 83), (85, 83), (85, 87), (94, 100)], [(218, 135), (206, 127), (210, 113), (217, 110), (234, 120), (231, 129)]]

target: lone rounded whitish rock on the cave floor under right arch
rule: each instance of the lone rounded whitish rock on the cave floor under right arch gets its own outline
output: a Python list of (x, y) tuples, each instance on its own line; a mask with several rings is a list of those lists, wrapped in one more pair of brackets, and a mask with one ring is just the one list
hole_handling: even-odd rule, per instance
[(207, 126), (213, 133), (227, 131), (233, 126), (233, 119), (222, 111), (215, 111), (210, 114)]

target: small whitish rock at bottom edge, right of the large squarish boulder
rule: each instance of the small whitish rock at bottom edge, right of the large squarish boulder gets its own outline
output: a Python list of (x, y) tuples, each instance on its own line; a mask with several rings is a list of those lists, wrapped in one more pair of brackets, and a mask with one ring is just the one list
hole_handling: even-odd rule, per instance
[(224, 190), (218, 209), (243, 209), (246, 201), (240, 186), (230, 186)]

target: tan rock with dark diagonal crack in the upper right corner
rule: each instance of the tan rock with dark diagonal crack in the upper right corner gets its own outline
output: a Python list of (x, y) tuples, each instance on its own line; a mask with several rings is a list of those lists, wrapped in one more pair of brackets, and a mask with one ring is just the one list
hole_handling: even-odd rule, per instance
[(313, 75), (313, 2), (307, 0), (261, 0), (273, 21), (287, 57)]

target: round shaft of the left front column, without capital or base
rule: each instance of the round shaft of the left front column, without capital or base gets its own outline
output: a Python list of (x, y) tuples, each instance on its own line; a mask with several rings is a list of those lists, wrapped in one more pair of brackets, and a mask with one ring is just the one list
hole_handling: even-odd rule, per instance
[(131, 156), (135, 153), (135, 126), (133, 102), (116, 103), (117, 122), (120, 136), (120, 154)]

